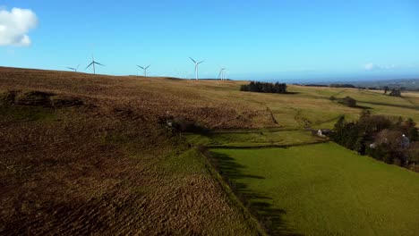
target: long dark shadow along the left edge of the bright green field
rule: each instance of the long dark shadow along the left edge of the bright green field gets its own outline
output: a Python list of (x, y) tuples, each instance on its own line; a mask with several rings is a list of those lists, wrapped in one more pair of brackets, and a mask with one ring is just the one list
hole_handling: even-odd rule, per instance
[(272, 198), (250, 190), (247, 184), (238, 182), (244, 179), (263, 181), (265, 177), (245, 173), (245, 166), (243, 164), (237, 164), (234, 158), (226, 154), (207, 151), (206, 156), (223, 179), (227, 181), (237, 198), (240, 198), (252, 215), (258, 218), (269, 235), (302, 235), (290, 229), (284, 220), (286, 211), (270, 204), (269, 201)]

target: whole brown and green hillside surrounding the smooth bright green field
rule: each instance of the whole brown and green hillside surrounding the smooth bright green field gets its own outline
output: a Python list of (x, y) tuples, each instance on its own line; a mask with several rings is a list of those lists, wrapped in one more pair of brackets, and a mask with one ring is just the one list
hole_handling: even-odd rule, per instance
[[(241, 92), (244, 83), (0, 67), (0, 234), (263, 234), (188, 141), (318, 142), (306, 128), (362, 111), (331, 96), (419, 121), (417, 93), (291, 86), (272, 95)], [(159, 123), (167, 115), (220, 135), (173, 134)]]

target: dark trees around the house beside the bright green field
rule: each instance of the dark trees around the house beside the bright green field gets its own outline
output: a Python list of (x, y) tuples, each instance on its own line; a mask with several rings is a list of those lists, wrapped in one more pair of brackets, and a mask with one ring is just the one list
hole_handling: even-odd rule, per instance
[(341, 116), (331, 138), (361, 155), (405, 167), (419, 164), (419, 134), (412, 119), (371, 115), (363, 110), (357, 122)]

